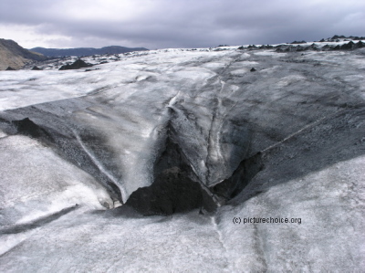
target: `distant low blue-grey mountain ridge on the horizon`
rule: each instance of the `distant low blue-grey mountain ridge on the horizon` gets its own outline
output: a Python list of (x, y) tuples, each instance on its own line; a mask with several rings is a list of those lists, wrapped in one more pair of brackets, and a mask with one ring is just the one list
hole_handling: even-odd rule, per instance
[(34, 47), (30, 49), (34, 52), (43, 54), (48, 57), (65, 57), (65, 56), (91, 56), (91, 55), (102, 55), (102, 54), (120, 54), (131, 51), (146, 51), (149, 50), (144, 47), (78, 47), (78, 48), (44, 48), (44, 47)]

